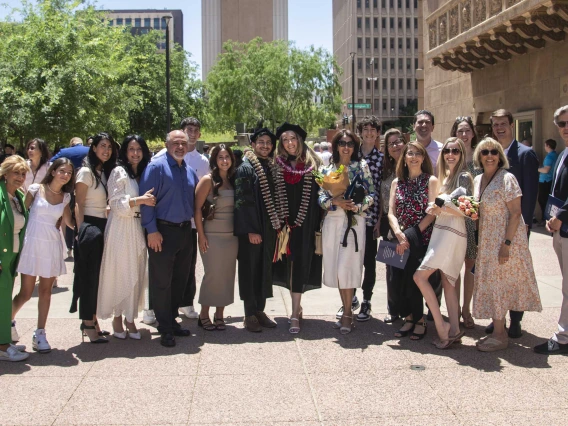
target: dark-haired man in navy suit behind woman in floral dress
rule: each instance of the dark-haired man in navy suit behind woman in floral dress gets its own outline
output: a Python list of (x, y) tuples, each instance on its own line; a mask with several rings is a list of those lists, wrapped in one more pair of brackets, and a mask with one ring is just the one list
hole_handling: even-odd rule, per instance
[[(505, 109), (498, 109), (491, 114), (491, 129), (493, 135), (499, 141), (505, 155), (509, 159), (509, 172), (511, 172), (521, 187), (521, 209), (527, 235), (530, 233), (534, 208), (538, 195), (538, 158), (536, 153), (519, 143), (513, 136), (513, 114)], [(509, 325), (509, 337), (521, 337), (521, 320), (523, 312), (510, 311), (511, 324)], [(493, 323), (485, 331), (493, 332)]]

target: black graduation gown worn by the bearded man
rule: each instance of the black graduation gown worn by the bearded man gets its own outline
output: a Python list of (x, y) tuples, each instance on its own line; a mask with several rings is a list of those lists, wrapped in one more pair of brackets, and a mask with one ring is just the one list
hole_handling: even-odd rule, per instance
[[(259, 158), (268, 185), (274, 194), (268, 161)], [(260, 179), (245, 159), (235, 174), (234, 235), (239, 237), (239, 296), (241, 300), (272, 297), (272, 259), (276, 247), (276, 230), (264, 204)], [(261, 244), (251, 244), (248, 234), (260, 234)]]

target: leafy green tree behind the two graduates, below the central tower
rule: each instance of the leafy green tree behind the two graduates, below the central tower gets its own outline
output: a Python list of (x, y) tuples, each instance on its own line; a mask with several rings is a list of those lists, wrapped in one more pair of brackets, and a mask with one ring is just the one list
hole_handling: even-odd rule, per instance
[(340, 112), (339, 68), (326, 50), (261, 38), (228, 41), (223, 49), (206, 82), (209, 113), (223, 130), (259, 119), (273, 129), (283, 121), (313, 129)]

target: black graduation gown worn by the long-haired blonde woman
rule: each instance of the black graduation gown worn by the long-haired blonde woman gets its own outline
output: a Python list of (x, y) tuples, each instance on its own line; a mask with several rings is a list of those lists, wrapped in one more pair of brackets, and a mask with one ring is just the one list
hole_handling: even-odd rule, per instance
[[(304, 177), (296, 184), (285, 183), (288, 197), (288, 223), (292, 225), (300, 210)], [(292, 229), (290, 233), (290, 255), (282, 256), (282, 260), (274, 264), (274, 284), (290, 289), (292, 292), (304, 293), (308, 290), (321, 288), (322, 256), (315, 252), (315, 233), (320, 227), (322, 209), (318, 204), (319, 186), (312, 180), (312, 190), (308, 213), (302, 226)], [(293, 264), (293, 267), (292, 267)]]

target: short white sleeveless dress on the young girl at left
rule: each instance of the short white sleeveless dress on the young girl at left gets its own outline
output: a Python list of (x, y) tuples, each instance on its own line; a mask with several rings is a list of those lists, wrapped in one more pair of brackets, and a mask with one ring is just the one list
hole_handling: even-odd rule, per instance
[(63, 241), (55, 225), (63, 215), (71, 196), (65, 194), (62, 203), (52, 205), (45, 199), (44, 191), (38, 183), (28, 188), (28, 192), (35, 198), (30, 207), (24, 247), (17, 270), (21, 274), (51, 278), (67, 273)]

